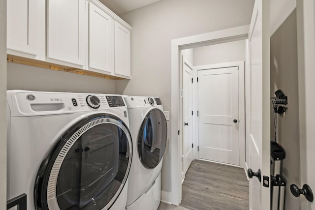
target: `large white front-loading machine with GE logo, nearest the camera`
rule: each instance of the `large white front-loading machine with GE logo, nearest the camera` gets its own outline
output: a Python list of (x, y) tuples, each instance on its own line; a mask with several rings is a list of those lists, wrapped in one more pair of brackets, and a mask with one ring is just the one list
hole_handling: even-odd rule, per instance
[(125, 210), (132, 140), (120, 95), (7, 91), (7, 199), (28, 210)]

